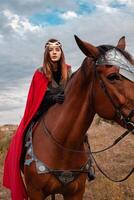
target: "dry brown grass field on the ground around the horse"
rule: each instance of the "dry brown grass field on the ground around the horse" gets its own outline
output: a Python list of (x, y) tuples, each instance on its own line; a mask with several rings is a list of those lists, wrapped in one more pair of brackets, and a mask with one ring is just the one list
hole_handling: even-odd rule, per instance
[[(100, 121), (98, 118), (88, 131), (92, 150), (102, 149), (112, 143), (124, 129), (116, 124)], [(11, 131), (10, 131), (11, 133)], [(2, 136), (1, 136), (2, 135)], [(4, 161), (7, 146), (11, 134), (0, 132), (0, 178), (2, 177), (2, 163)], [(95, 155), (101, 168), (113, 179), (121, 179), (132, 169), (134, 164), (134, 135), (128, 135), (119, 144), (107, 152)], [(2, 178), (1, 178), (2, 179)], [(9, 192), (2, 187), (0, 181), (0, 199), (10, 200)], [(50, 199), (50, 198), (48, 198)], [(63, 199), (57, 195), (56, 199)], [(113, 183), (107, 180), (97, 169), (96, 179), (86, 183), (84, 200), (133, 200), (134, 199), (134, 177), (133, 175), (125, 182)]]

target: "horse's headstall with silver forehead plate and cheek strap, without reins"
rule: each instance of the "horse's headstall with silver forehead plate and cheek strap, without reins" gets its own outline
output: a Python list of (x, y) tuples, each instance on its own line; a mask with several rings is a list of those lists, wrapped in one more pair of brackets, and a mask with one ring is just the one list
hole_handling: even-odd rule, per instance
[(132, 122), (131, 119), (134, 116), (134, 109), (131, 110), (131, 112), (128, 114), (127, 117), (124, 116), (124, 114), (121, 111), (120, 106), (116, 105), (116, 103), (114, 102), (112, 96), (110, 95), (106, 87), (106, 84), (104, 83), (104, 80), (102, 80), (102, 78), (99, 76), (96, 69), (99, 66), (101, 67), (101, 65), (106, 65), (108, 67), (117, 66), (121, 76), (134, 82), (134, 65), (128, 60), (125, 52), (121, 49), (118, 49), (117, 47), (109, 48), (107, 46), (106, 47), (107, 50), (106, 50), (104, 46), (102, 45), (102, 46), (99, 46), (98, 48), (100, 52), (102, 53), (94, 62), (95, 75), (97, 76), (97, 78), (99, 78), (99, 83), (102, 90), (104, 91), (106, 96), (109, 98), (110, 102), (112, 103), (115, 109), (115, 117), (113, 118), (113, 120), (115, 120), (116, 118), (120, 119), (120, 121), (122, 121), (123, 124), (125, 125), (126, 129), (133, 131), (134, 122)]

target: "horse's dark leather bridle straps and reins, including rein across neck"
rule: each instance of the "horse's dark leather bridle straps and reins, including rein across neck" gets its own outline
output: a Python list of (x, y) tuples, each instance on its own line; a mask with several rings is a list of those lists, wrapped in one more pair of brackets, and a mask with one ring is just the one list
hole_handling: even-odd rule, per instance
[(102, 149), (102, 150), (98, 150), (98, 151), (91, 151), (91, 148), (90, 148), (90, 144), (88, 142), (88, 140), (86, 141), (87, 142), (87, 146), (88, 146), (88, 151), (81, 151), (81, 150), (75, 150), (75, 149), (71, 149), (71, 148), (68, 148), (68, 147), (64, 147), (56, 138), (55, 136), (49, 131), (49, 129), (47, 128), (44, 120), (42, 119), (42, 125), (43, 125), (43, 131), (44, 133), (53, 141), (53, 143), (58, 146), (59, 148), (63, 149), (63, 150), (66, 150), (68, 152), (75, 152), (75, 153), (84, 153), (84, 154), (90, 154), (97, 166), (97, 168), (99, 169), (99, 171), (106, 177), (108, 178), (109, 180), (111, 181), (114, 181), (114, 182), (122, 182), (126, 179), (128, 179), (128, 177), (134, 172), (134, 168), (132, 168), (132, 170), (128, 173), (127, 176), (125, 176), (123, 179), (121, 180), (113, 180), (111, 179), (98, 165), (96, 159), (94, 158), (93, 154), (97, 154), (97, 153), (100, 153), (100, 152), (104, 152), (110, 148), (112, 148), (113, 146), (115, 146), (117, 143), (120, 142), (120, 140), (122, 140), (125, 136), (127, 136), (129, 133), (134, 133), (134, 123), (131, 121), (132, 117), (134, 116), (134, 110), (132, 110), (130, 112), (130, 114), (125, 117), (121, 111), (121, 109), (115, 104), (115, 102), (113, 101), (112, 97), (110, 96), (108, 90), (107, 90), (107, 87), (104, 83), (104, 81), (100, 78), (100, 76), (98, 75), (97, 73), (97, 70), (96, 70), (96, 64), (95, 64), (95, 61), (93, 61), (93, 65), (94, 65), (94, 78), (93, 78), (93, 81), (92, 81), (92, 84), (91, 84), (91, 104), (92, 104), (92, 108), (94, 107), (93, 106), (93, 102), (94, 102), (94, 96), (95, 96), (95, 93), (94, 93), (94, 90), (93, 90), (93, 87), (94, 87), (94, 82), (95, 82), (95, 78), (96, 76), (99, 78), (99, 83), (100, 83), (100, 86), (102, 88), (102, 90), (104, 91), (104, 93), (107, 95), (107, 97), (109, 98), (110, 102), (112, 103), (112, 105), (114, 106), (115, 108), (115, 111), (116, 111), (116, 115), (118, 117), (120, 117), (120, 119), (123, 120), (123, 122), (125, 123), (125, 126), (126, 128), (128, 127), (128, 125), (131, 125), (131, 128), (129, 130), (126, 130), (120, 137), (118, 137), (114, 142), (113, 144), (111, 144), (110, 146)]

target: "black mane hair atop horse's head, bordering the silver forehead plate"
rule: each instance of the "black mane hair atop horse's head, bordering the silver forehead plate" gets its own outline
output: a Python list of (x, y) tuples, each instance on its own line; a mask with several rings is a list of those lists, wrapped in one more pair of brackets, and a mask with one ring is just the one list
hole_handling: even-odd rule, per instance
[(108, 50), (115, 48), (116, 50), (120, 51), (124, 57), (129, 60), (133, 64), (133, 58), (132, 56), (125, 50), (119, 49), (118, 47), (112, 46), (112, 45), (100, 45), (97, 47), (102, 55), (104, 55)]

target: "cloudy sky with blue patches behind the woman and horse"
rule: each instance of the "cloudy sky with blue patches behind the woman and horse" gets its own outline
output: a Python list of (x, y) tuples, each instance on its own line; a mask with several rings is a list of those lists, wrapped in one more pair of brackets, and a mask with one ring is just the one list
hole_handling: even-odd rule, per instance
[(19, 123), (44, 44), (56, 38), (75, 71), (84, 55), (74, 34), (94, 45), (126, 36), (134, 54), (134, 0), (0, 0), (0, 124)]

